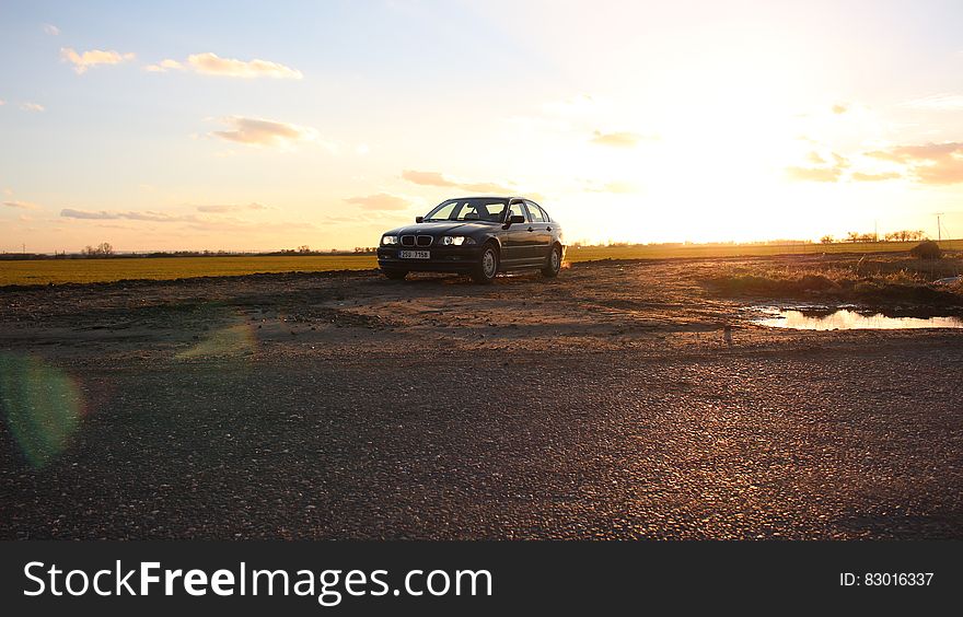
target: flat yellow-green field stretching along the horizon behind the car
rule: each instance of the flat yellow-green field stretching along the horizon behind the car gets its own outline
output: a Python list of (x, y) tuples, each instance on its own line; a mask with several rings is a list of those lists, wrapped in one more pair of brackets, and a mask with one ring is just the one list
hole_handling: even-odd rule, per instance
[[(867, 244), (678, 244), (572, 247), (569, 261), (596, 259), (666, 259), (740, 257), (817, 253), (877, 253), (908, 251), (916, 243)], [(943, 249), (963, 251), (963, 240), (943, 241)], [(192, 277), (229, 277), (260, 272), (323, 272), (375, 268), (373, 255), (292, 255), (230, 257), (131, 257), (108, 259), (0, 260), (0, 287), (67, 282), (108, 282), (129, 279), (169, 280)]]

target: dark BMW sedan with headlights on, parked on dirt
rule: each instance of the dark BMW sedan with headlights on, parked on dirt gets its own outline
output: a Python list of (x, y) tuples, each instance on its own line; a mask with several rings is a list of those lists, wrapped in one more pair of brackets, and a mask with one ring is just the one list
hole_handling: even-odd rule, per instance
[(463, 272), (488, 283), (498, 272), (525, 268), (555, 277), (564, 257), (561, 225), (522, 197), (449, 199), (414, 225), (385, 232), (378, 247), (378, 265), (390, 279)]

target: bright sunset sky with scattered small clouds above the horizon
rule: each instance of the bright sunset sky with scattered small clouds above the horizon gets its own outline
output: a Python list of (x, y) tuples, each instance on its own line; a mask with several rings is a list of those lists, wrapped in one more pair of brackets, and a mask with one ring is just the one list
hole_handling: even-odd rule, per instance
[(963, 3), (0, 0), (0, 251), (963, 236)]

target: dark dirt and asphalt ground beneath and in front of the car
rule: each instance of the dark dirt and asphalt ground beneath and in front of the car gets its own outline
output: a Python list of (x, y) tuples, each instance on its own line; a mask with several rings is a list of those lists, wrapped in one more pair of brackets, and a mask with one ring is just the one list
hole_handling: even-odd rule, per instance
[(963, 538), (963, 330), (704, 282), (814, 259), (0, 290), (0, 537)]

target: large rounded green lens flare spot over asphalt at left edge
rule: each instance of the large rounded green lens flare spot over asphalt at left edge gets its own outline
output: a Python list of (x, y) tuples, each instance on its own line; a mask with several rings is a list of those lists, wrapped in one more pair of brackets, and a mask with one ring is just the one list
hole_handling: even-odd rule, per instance
[(0, 352), (0, 411), (32, 466), (43, 467), (63, 452), (82, 408), (70, 375), (34, 356)]

